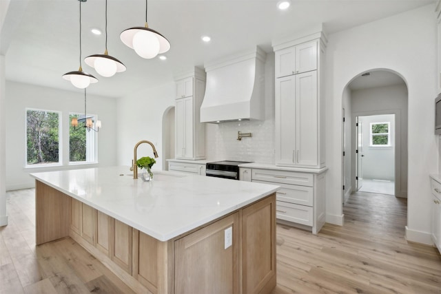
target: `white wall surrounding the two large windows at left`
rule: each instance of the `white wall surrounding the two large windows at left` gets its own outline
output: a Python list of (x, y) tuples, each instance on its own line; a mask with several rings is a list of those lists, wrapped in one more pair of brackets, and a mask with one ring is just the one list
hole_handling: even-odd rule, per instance
[[(72, 86), (73, 87), (73, 86)], [(25, 169), (25, 109), (37, 108), (61, 112), (61, 154), (63, 167)], [(96, 114), (103, 127), (98, 135), (98, 165), (76, 165), (75, 168), (116, 165), (116, 99), (88, 94), (88, 113)], [(6, 189), (34, 187), (29, 173), (72, 168), (69, 162), (69, 113), (84, 112), (84, 92), (68, 92), (48, 87), (6, 81)]]

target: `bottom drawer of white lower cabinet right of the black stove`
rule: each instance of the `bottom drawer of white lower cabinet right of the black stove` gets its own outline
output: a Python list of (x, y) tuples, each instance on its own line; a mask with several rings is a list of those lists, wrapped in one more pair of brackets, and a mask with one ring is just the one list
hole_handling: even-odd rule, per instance
[(296, 222), (297, 224), (305, 224), (310, 227), (314, 225), (313, 209), (305, 205), (277, 201), (276, 218)]

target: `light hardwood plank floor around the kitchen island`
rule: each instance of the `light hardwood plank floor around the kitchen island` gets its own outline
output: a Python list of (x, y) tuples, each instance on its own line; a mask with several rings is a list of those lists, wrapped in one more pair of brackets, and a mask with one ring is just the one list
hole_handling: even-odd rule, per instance
[[(34, 189), (11, 191), (0, 228), (0, 293), (133, 293), (70, 238), (35, 246)], [(287, 293), (441, 293), (441, 256), (406, 242), (407, 202), (354, 193), (345, 226), (277, 227), (277, 287)]]

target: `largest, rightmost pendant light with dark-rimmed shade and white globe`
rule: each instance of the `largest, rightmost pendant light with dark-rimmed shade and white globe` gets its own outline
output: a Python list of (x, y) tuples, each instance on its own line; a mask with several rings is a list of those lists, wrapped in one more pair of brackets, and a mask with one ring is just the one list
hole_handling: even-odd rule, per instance
[(121, 32), (121, 41), (135, 50), (143, 59), (152, 59), (170, 50), (170, 42), (147, 24), (147, 0), (145, 0), (145, 26), (129, 28)]

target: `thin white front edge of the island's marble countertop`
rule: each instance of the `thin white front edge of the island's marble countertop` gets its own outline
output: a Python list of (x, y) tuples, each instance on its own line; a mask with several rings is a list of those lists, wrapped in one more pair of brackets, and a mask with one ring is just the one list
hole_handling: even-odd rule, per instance
[(66, 195), (68, 195), (76, 200), (79, 200), (80, 202), (83, 202), (84, 204), (87, 204), (90, 207), (92, 207), (98, 211), (101, 211), (102, 213), (107, 214), (107, 216), (110, 216), (116, 220), (119, 220), (119, 221), (129, 225), (130, 227), (132, 227), (134, 229), (137, 229), (143, 233), (146, 233), (147, 235), (150, 235), (151, 237), (153, 237), (161, 242), (167, 242), (169, 240), (172, 240), (173, 238), (176, 238), (178, 235), (181, 235), (181, 234), (186, 233), (188, 231), (192, 231), (193, 229), (201, 227), (203, 224), (207, 224), (208, 222), (212, 222), (213, 220), (216, 220), (218, 218), (226, 216), (227, 214), (232, 213), (233, 211), (236, 211), (237, 209), (243, 208), (243, 207), (247, 206), (248, 204), (252, 204), (253, 202), (256, 202), (262, 198), (265, 198), (266, 196), (269, 196), (269, 195), (271, 195), (271, 193), (275, 193), (278, 189), (280, 189), (280, 186), (273, 185), (275, 187), (274, 189), (266, 191), (265, 193), (260, 194), (260, 195), (254, 197), (252, 199), (249, 199), (245, 202), (241, 202), (234, 207), (229, 207), (223, 211), (219, 211), (218, 213), (215, 213), (212, 216), (209, 216), (208, 218), (203, 218), (201, 220), (198, 220), (198, 222), (194, 222), (187, 227), (183, 227), (183, 228), (177, 229), (175, 231), (170, 231), (165, 234), (159, 234), (156, 231), (152, 231), (146, 227), (143, 227), (135, 222), (132, 222), (131, 220), (128, 220), (127, 218), (123, 218), (123, 217), (117, 215), (116, 213), (112, 213), (111, 211), (107, 211), (106, 209), (103, 209), (103, 207), (98, 207), (96, 204), (89, 202), (87, 199), (76, 196), (74, 193), (70, 193), (70, 191), (66, 191), (64, 189), (61, 189), (61, 187), (57, 187), (55, 185), (52, 185), (50, 182), (47, 182), (46, 180), (39, 178), (37, 175), (30, 174), (30, 176), (32, 176), (36, 180), (39, 180), (40, 182), (43, 182), (45, 185), (48, 185), (58, 191), (61, 191), (62, 193), (65, 193)]

